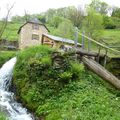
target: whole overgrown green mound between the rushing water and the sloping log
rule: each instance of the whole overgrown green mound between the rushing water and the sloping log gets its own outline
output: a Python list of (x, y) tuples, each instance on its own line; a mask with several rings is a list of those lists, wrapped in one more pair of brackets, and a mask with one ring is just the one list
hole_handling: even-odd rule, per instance
[(83, 64), (45, 46), (21, 51), (14, 88), (23, 104), (45, 120), (119, 120), (120, 92)]

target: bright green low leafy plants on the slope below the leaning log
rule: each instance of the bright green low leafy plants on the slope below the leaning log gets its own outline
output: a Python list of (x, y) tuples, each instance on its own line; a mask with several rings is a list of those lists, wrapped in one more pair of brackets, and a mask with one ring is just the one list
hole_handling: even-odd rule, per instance
[(119, 120), (117, 91), (93, 73), (87, 72), (82, 77), (40, 105), (38, 114), (46, 120)]

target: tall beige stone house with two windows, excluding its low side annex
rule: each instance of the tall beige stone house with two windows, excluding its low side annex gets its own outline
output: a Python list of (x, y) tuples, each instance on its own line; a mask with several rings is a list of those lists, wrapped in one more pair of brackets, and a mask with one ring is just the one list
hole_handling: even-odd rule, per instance
[(41, 44), (42, 34), (47, 34), (48, 28), (38, 19), (23, 24), (19, 30), (19, 49)]

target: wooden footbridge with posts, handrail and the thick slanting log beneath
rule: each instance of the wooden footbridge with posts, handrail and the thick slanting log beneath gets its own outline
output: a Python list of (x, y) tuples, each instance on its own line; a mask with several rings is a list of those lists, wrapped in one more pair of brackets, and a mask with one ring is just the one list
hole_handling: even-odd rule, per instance
[[(81, 56), (82, 62), (94, 73), (120, 89), (120, 80), (105, 68), (107, 58), (112, 56), (120, 58), (120, 51), (101, 44), (83, 33), (79, 34), (82, 36), (82, 46), (81, 49), (76, 49), (76, 54)], [(103, 65), (100, 64), (100, 59)]]

